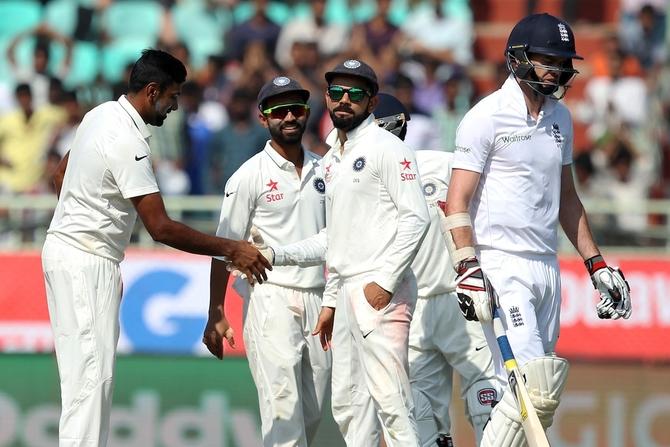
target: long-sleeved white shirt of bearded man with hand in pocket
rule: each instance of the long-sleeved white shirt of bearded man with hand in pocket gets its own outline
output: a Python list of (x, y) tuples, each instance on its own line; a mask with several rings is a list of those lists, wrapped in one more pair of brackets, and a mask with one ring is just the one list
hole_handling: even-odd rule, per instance
[[(370, 115), (347, 133), (337, 130), (323, 158), (329, 284), (371, 274), (393, 292), (410, 267), (429, 223), (414, 152)], [(334, 306), (327, 287), (324, 305)]]

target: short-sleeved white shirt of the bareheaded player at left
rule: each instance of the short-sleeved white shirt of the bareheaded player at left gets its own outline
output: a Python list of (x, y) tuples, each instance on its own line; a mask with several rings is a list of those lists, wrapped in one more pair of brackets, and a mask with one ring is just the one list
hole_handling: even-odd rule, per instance
[(77, 129), (48, 234), (120, 262), (137, 211), (130, 200), (158, 191), (149, 129), (125, 96), (88, 112)]

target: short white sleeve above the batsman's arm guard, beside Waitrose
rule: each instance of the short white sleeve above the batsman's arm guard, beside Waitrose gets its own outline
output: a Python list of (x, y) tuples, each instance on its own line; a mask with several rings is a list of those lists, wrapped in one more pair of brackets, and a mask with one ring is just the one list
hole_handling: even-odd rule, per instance
[(481, 173), (493, 148), (494, 131), (490, 116), (478, 109), (468, 112), (456, 130), (453, 167)]

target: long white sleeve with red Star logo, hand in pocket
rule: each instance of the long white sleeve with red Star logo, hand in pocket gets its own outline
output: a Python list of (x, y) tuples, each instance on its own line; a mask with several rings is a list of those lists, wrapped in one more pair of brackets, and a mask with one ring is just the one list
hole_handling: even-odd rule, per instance
[(414, 152), (398, 141), (379, 151), (376, 158), (381, 183), (398, 210), (398, 227), (384, 266), (374, 281), (393, 293), (416, 256), (430, 217)]

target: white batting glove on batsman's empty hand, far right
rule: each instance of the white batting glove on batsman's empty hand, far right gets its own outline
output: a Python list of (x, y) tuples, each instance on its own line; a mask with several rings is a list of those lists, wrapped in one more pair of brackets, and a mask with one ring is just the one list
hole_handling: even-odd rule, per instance
[(630, 286), (618, 268), (609, 267), (602, 256), (597, 255), (584, 262), (591, 275), (593, 287), (600, 294), (596, 305), (598, 317), (602, 319), (628, 319), (633, 312), (630, 302)]

